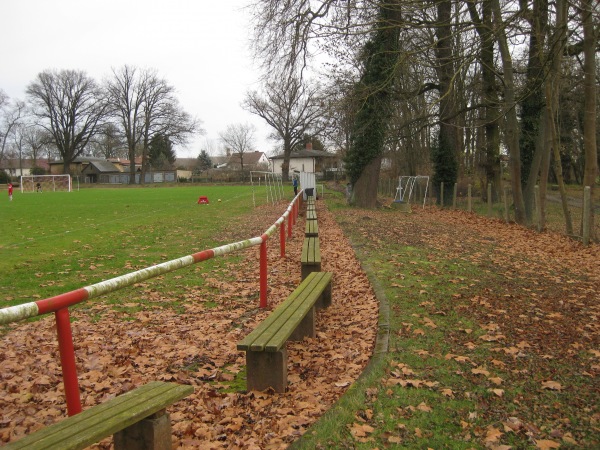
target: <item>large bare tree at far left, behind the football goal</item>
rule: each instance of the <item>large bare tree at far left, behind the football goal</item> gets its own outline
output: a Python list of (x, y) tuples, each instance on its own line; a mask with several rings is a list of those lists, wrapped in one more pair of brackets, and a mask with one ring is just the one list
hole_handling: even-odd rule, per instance
[(27, 87), (33, 114), (50, 135), (69, 173), (106, 117), (108, 105), (98, 85), (83, 71), (44, 71)]

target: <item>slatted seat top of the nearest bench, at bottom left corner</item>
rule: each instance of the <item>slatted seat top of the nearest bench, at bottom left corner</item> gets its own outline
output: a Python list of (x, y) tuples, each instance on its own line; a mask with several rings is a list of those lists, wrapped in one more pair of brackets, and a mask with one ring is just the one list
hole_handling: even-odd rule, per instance
[(156, 381), (8, 444), (6, 449), (83, 449), (161, 411), (194, 392), (189, 385)]

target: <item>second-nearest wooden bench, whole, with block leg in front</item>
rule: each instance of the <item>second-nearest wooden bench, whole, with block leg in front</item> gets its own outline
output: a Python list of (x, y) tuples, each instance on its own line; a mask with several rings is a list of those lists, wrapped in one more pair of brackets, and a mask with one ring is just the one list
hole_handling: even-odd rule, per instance
[(315, 337), (315, 307), (331, 304), (331, 272), (313, 272), (290, 296), (237, 344), (246, 352), (246, 387), (285, 392), (287, 386), (286, 341)]

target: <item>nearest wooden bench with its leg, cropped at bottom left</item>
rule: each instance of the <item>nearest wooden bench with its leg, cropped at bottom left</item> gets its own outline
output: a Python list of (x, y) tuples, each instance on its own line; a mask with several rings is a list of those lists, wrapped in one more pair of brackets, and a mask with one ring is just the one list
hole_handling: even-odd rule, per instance
[(116, 450), (171, 449), (166, 407), (194, 392), (155, 381), (11, 442), (3, 449), (83, 449), (114, 435)]

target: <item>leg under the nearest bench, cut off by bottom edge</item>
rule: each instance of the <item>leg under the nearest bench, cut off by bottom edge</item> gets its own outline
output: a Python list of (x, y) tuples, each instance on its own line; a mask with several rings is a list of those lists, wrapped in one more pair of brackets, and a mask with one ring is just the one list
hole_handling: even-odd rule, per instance
[(170, 450), (171, 419), (166, 410), (114, 434), (115, 450)]

